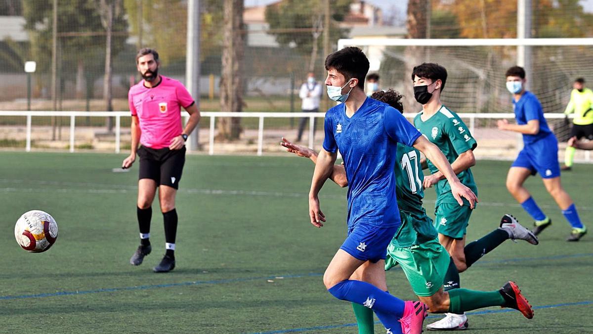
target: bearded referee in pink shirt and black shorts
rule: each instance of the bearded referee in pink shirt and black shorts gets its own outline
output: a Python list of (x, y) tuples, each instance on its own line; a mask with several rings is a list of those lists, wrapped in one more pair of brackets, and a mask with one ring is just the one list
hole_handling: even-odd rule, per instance
[[(142, 264), (151, 253), (150, 223), (152, 201), (158, 191), (165, 225), (165, 256), (154, 272), (168, 272), (175, 267), (175, 236), (177, 211), (175, 196), (185, 163), (185, 142), (200, 121), (200, 112), (187, 89), (177, 80), (158, 74), (158, 53), (141, 49), (136, 55), (136, 68), (142, 75), (130, 88), (128, 102), (132, 113), (132, 149), (122, 168), (130, 168), (140, 158), (138, 181), (138, 225), (140, 245), (130, 259), (134, 266)], [(181, 107), (190, 114), (181, 127)], [(138, 145), (140, 144), (140, 146)]]

